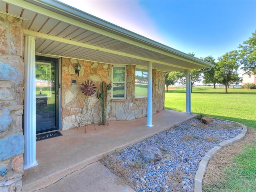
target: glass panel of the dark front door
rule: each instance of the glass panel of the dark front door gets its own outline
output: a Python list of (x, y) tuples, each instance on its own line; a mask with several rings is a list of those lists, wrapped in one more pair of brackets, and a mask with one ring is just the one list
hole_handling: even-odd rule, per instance
[[(58, 88), (58, 87), (57, 87)], [(58, 89), (57, 89), (58, 90)], [(36, 61), (36, 132), (56, 128), (55, 62)]]

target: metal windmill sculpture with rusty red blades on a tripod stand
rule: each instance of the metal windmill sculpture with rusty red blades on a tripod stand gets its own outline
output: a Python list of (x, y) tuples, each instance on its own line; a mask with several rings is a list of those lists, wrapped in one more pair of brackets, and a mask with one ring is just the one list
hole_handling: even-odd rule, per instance
[[(83, 125), (85, 126), (85, 132), (86, 132), (86, 127), (88, 126), (88, 123), (94, 124), (92, 107), (90, 104), (89, 96), (92, 96), (96, 92), (96, 86), (93, 84), (92, 81), (89, 82), (89, 80), (87, 80), (87, 82), (82, 83), (81, 90), (82, 90), (82, 93), (85, 95), (85, 99), (84, 99), (84, 105), (82, 108), (81, 116), (79, 118), (79, 122), (76, 130), (78, 130), (78, 127), (80, 125)], [(96, 130), (95, 124), (94, 124), (94, 129)]]

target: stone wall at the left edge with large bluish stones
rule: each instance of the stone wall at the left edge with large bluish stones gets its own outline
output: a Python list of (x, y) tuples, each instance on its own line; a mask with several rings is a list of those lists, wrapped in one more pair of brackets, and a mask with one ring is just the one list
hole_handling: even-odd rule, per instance
[(0, 191), (22, 189), (22, 20), (0, 13)]

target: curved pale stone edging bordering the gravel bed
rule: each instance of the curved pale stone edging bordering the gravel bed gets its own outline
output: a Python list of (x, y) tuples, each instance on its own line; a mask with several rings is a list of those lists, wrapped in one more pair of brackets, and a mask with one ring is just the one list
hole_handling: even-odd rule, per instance
[[(218, 118), (214, 118), (214, 119), (218, 119)], [(219, 119), (219, 120), (223, 120), (223, 119)], [(224, 121), (228, 121), (228, 120), (224, 120)], [(228, 122), (234, 122), (234, 121), (228, 121)], [(237, 124), (240, 124), (238, 122), (234, 122)], [(204, 174), (206, 172), (206, 168), (207, 168), (207, 164), (209, 162), (209, 160), (215, 155), (217, 154), (222, 148), (230, 146), (240, 140), (242, 140), (246, 133), (248, 132), (248, 128), (247, 126), (240, 124), (241, 127), (243, 127), (243, 130), (240, 134), (238, 134), (236, 137), (232, 138), (232, 139), (228, 139), (225, 141), (220, 142), (218, 145), (214, 146), (214, 148), (212, 148), (210, 151), (208, 151), (205, 156), (202, 158), (202, 160), (199, 163), (198, 166), (198, 170), (196, 171), (196, 175), (194, 178), (194, 192), (202, 192), (202, 183), (203, 183), (203, 177)]]

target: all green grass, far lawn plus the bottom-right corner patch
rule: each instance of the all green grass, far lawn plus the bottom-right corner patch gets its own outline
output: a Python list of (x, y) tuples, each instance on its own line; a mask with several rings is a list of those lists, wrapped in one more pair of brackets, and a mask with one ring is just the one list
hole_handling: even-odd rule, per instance
[[(256, 90), (223, 88), (193, 88), (191, 108), (193, 113), (240, 122), (256, 130)], [(165, 108), (186, 112), (186, 89), (172, 89), (165, 93)], [(215, 139), (215, 138), (212, 138)], [(223, 172), (224, 177), (205, 192), (256, 191), (256, 142), (246, 145)]]

